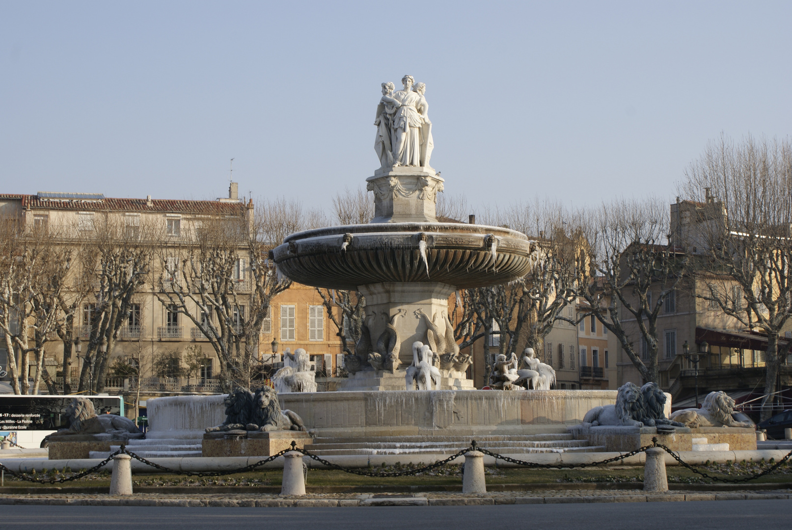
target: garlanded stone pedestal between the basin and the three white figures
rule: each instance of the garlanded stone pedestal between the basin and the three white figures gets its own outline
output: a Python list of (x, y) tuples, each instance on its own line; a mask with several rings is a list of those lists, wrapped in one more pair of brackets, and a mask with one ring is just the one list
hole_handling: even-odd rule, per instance
[(443, 183), (432, 168), (378, 169), (366, 179), (366, 189), (374, 191), (371, 222), (437, 222), (435, 204)]

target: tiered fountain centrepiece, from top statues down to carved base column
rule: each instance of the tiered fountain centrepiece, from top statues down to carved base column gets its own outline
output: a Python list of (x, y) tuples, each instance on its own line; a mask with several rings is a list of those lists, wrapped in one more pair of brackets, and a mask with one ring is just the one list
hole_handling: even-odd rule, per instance
[[(366, 297), (363, 338), (345, 356), (344, 390), (403, 390), (415, 343), (427, 343), (440, 377), (433, 389), (474, 388), (448, 316), (456, 290), (524, 276), (531, 242), (496, 226), (438, 222), (440, 172), (429, 165), (433, 142), (425, 85), (383, 83), (375, 125), (381, 166), (367, 178), (375, 215), (366, 225), (291, 234), (272, 251), (280, 274), (308, 286), (357, 290)], [(420, 346), (419, 346), (420, 347)]]

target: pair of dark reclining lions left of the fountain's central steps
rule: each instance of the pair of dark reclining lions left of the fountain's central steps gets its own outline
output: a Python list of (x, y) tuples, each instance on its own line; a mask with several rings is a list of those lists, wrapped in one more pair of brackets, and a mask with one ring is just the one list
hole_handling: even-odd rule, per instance
[(278, 393), (270, 387), (259, 388), (255, 395), (247, 388), (230, 392), (226, 405), (226, 421), (208, 427), (207, 433), (229, 430), (306, 430), (303, 419), (295, 412), (281, 410)]

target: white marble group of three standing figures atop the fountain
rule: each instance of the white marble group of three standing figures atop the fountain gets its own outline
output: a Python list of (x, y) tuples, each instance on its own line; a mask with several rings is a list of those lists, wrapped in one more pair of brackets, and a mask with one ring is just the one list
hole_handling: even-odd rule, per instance
[(424, 83), (413, 76), (402, 78), (402, 90), (393, 83), (383, 83), (383, 97), (377, 106), (374, 125), (377, 135), (374, 150), (383, 168), (394, 166), (430, 167), (432, 157), (432, 122), (426, 102)]

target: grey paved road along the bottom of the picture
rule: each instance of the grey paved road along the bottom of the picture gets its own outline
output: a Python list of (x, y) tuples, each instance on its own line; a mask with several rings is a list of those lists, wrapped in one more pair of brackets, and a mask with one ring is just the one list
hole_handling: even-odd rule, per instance
[(367, 508), (166, 508), (0, 506), (3, 528), (585, 528), (729, 530), (792, 527), (790, 501), (625, 502), (617, 504), (405, 506)]

